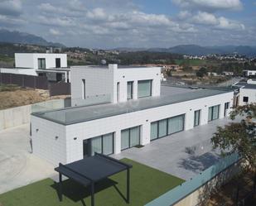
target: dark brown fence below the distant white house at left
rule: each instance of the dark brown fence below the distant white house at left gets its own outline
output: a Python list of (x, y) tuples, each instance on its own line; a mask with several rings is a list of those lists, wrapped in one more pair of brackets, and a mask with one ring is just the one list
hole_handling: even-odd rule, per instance
[(70, 83), (49, 82), (46, 76), (0, 73), (0, 84), (17, 84), (33, 89), (49, 89), (50, 96), (70, 95)]

